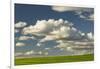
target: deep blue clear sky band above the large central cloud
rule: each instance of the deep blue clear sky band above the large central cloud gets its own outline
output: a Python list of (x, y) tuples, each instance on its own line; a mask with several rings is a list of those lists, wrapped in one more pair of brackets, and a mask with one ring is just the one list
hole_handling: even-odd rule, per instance
[[(93, 8), (91, 9), (93, 10)], [(86, 14), (86, 12), (84, 14)], [(15, 23), (25, 21), (31, 25), (35, 24), (37, 20), (59, 18), (73, 22), (74, 26), (83, 32), (93, 32), (94, 30), (93, 21), (81, 19), (78, 15), (75, 15), (74, 11), (56, 12), (51, 9), (51, 6), (45, 5), (15, 5)]]

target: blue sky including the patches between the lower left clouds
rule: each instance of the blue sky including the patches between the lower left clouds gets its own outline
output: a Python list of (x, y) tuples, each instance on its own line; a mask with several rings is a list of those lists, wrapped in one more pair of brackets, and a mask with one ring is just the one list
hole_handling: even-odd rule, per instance
[[(78, 8), (78, 7), (77, 7)], [(82, 9), (81, 7), (79, 7)], [(29, 4), (15, 4), (15, 24), (18, 22), (26, 22), (27, 25), (25, 27), (28, 27), (30, 25), (35, 25), (37, 20), (48, 20), (48, 19), (63, 19), (63, 20), (68, 20), (69, 22), (74, 24), (74, 27), (77, 28), (78, 30), (84, 32), (84, 33), (89, 33), (91, 32), (92, 34), (94, 33), (94, 20), (89, 19), (89, 16), (94, 14), (94, 9), (93, 8), (85, 8), (85, 9), (90, 9), (90, 11), (82, 11), (81, 14), (78, 14), (76, 10), (71, 10), (71, 11), (55, 11), (52, 9), (52, 6), (46, 6), (46, 5), (29, 5)], [(80, 17), (80, 16), (83, 16)], [(22, 30), (23, 28), (19, 28), (19, 30)], [(23, 36), (21, 33), (22, 31), (19, 31), (18, 33), (15, 33), (15, 38)], [(30, 36), (31, 35), (27, 35)], [(57, 42), (55, 41), (48, 41), (44, 42), (45, 44), (42, 45), (41, 48), (37, 48), (36, 44), (40, 40), (18, 40), (15, 39), (15, 46), (17, 42), (23, 42), (26, 43), (25, 46), (22, 47), (15, 47), (16, 52), (25, 52), (25, 51), (30, 51), (30, 50), (36, 50), (36, 51), (44, 51), (43, 49), (46, 47), (53, 47), (55, 45), (58, 45)], [(50, 50), (50, 54), (52, 52), (60, 53), (60, 51), (57, 49), (55, 50)], [(61, 52), (66, 53), (65, 51)], [(68, 53), (68, 51), (67, 51)], [(70, 52), (71, 53), (71, 52)]]

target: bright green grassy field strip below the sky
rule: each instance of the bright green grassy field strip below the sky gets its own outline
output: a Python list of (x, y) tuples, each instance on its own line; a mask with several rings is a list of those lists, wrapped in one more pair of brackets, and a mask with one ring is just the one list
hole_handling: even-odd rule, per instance
[(61, 63), (61, 62), (80, 62), (80, 61), (93, 61), (93, 60), (94, 60), (93, 54), (77, 55), (77, 56), (16, 58), (15, 65), (46, 64), (46, 63)]

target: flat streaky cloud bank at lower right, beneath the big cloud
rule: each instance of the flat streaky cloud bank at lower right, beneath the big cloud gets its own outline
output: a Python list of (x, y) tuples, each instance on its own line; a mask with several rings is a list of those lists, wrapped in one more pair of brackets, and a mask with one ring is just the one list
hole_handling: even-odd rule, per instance
[[(54, 46), (54, 48), (60, 51), (69, 52), (69, 55), (83, 55), (93, 53), (94, 45), (93, 41), (65, 41), (60, 40), (60, 44)], [(67, 54), (68, 55), (68, 54)]]

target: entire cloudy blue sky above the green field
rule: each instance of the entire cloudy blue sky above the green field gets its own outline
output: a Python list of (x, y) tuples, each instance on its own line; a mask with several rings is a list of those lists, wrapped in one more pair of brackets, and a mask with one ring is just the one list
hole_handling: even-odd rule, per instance
[(15, 4), (15, 56), (93, 53), (93, 35), (93, 8)]

